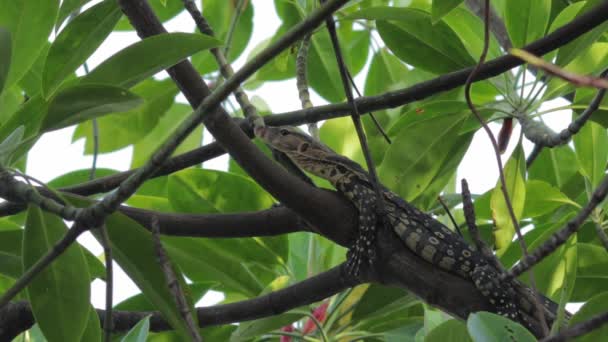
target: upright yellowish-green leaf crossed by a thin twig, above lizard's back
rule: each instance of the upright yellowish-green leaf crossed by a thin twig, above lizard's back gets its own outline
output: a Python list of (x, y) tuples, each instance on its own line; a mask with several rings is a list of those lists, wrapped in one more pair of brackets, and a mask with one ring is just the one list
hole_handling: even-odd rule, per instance
[[(507, 193), (509, 194), (513, 212), (518, 221), (522, 217), (526, 200), (525, 166), (526, 161), (523, 149), (518, 147), (504, 167)], [(500, 180), (492, 191), (490, 208), (492, 209), (492, 218), (496, 226), (494, 231), (496, 249), (498, 249), (498, 254), (502, 255), (511, 244), (513, 235), (515, 235), (515, 227), (513, 226), (513, 221), (501, 190)]]

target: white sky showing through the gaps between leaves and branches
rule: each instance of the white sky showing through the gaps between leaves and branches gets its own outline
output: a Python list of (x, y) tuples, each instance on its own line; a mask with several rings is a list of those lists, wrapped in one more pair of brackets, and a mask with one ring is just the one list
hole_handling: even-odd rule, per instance
[[(154, 0), (152, 0), (154, 1)], [(241, 67), (245, 62), (251, 48), (256, 46), (260, 41), (271, 37), (278, 28), (280, 21), (275, 13), (273, 1), (268, 0), (251, 0), (254, 5), (254, 30), (251, 41), (247, 50), (234, 63), (235, 70)], [(172, 19), (166, 25), (168, 31), (193, 32), (194, 24), (187, 15), (182, 13)], [(131, 33), (113, 33), (108, 40), (100, 47), (100, 49), (89, 59), (89, 67), (93, 69), (103, 60), (119, 51), (120, 49), (138, 41), (139, 38), (134, 32)], [(371, 57), (371, 54), (370, 54)], [(363, 89), (365, 82), (364, 75), (366, 70), (363, 70), (355, 82), (360, 89)], [(162, 77), (166, 77), (166, 74)], [(269, 104), (271, 110), (275, 113), (296, 110), (300, 108), (295, 80), (268, 82), (264, 86), (248, 92), (250, 96), (256, 95), (263, 98)], [(319, 105), (325, 103), (316, 94), (312, 94), (313, 103)], [(563, 105), (557, 103), (555, 105)], [(553, 113), (543, 117), (545, 122), (554, 129), (562, 129), (570, 119), (569, 112)], [(495, 134), (498, 133), (499, 126), (491, 125)], [(45, 134), (32, 148), (28, 156), (27, 173), (37, 179), (47, 182), (66, 172), (89, 168), (92, 163), (91, 156), (84, 156), (84, 140), (71, 143), (71, 138), (74, 128), (69, 127), (62, 130), (54, 131)], [(207, 143), (211, 136), (204, 135), (204, 142)], [(503, 156), (503, 161), (510, 154), (510, 151), (515, 147), (519, 137), (519, 128), (513, 132), (509, 150)], [(524, 144), (527, 152), (531, 150), (529, 143)], [(99, 155), (97, 166), (100, 168), (111, 168), (116, 170), (127, 170), (131, 160), (132, 149), (125, 148), (120, 151), (108, 154)], [(225, 169), (227, 158), (218, 158), (218, 160), (207, 163), (206, 167)], [(482, 166), (483, 167), (480, 167)], [(471, 144), (471, 147), (466, 154), (459, 170), (458, 179), (467, 178), (471, 191), (473, 193), (482, 193), (493, 187), (498, 177), (494, 152), (492, 151), (489, 140), (483, 131), (479, 131)], [(95, 255), (102, 254), (102, 248), (90, 235), (83, 236), (79, 239), (83, 245), (89, 248)], [(115, 283), (114, 283), (114, 303), (118, 303), (134, 294), (139, 293), (135, 284), (115, 265)], [(96, 280), (93, 283), (92, 303), (97, 308), (104, 307), (105, 301), (105, 283)], [(210, 305), (218, 300), (221, 300), (221, 295), (217, 293), (203, 299), (204, 305)], [(200, 305), (200, 303), (199, 303)]]

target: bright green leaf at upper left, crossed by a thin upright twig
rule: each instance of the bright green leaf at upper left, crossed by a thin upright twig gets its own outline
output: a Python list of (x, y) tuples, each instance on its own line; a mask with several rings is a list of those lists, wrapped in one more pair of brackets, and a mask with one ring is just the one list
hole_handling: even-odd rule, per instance
[[(112, 152), (143, 139), (157, 126), (160, 118), (171, 108), (178, 92), (171, 79), (147, 79), (131, 91), (145, 102), (125, 113), (113, 113), (97, 119), (99, 152)], [(85, 153), (93, 154), (93, 127), (90, 121), (81, 123), (74, 131), (73, 141), (86, 138)]]

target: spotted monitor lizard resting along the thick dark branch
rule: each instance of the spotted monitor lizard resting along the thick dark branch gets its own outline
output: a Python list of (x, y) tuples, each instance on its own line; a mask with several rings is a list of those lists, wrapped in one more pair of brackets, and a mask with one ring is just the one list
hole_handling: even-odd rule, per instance
[[(359, 211), (358, 236), (349, 250), (347, 267), (357, 274), (363, 262), (375, 260), (377, 217), (376, 193), (369, 174), (348, 158), (289, 126), (263, 127), (256, 135), (277, 150), (284, 152), (302, 169), (325, 178), (344, 194)], [(392, 227), (405, 246), (424, 260), (465, 279), (471, 279), (497, 314), (518, 321), (530, 328), (527, 317), (535, 308), (522, 296), (531, 290), (517, 280), (499, 284), (499, 271), (478, 251), (449, 228), (426, 213), (405, 202), (382, 187), (386, 217), (383, 223)], [(557, 304), (544, 298), (545, 316), (555, 319)]]

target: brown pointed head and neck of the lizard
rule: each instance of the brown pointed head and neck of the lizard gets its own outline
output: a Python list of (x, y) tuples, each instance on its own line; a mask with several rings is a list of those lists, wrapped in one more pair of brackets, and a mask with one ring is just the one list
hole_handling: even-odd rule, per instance
[(361, 169), (358, 164), (295, 127), (257, 127), (255, 135), (285, 153), (300, 168), (334, 184), (355, 166), (357, 171)]

